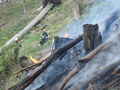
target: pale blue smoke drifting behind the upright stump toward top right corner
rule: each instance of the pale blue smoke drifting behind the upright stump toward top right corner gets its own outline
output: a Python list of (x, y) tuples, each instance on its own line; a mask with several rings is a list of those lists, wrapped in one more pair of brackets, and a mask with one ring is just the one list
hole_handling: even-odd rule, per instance
[[(68, 33), (70, 38), (75, 38), (76, 36), (82, 34), (83, 24), (98, 24), (100, 31), (103, 34), (106, 27), (110, 26), (108, 24), (112, 24), (115, 20), (117, 20), (119, 14), (118, 9), (120, 8), (120, 0), (97, 1), (99, 1), (99, 3), (91, 8), (89, 10), (90, 12), (87, 12), (87, 14), (85, 14), (84, 17), (80, 18), (78, 21), (69, 22), (65, 27), (65, 30), (58, 33), (58, 36), (63, 37), (65, 33)], [(116, 13), (118, 14), (116, 15)], [(115, 15), (116, 17), (114, 17)], [(108, 23), (107, 20), (112, 23)]]

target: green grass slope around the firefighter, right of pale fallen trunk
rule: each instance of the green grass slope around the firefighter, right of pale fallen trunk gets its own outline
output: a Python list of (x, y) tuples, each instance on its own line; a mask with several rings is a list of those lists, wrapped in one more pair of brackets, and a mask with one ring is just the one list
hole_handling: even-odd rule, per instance
[[(67, 8), (68, 6), (69, 9)], [(42, 47), (39, 47), (39, 38), (42, 34), (42, 31), (39, 30), (38, 32), (36, 32), (36, 28), (33, 28), (33, 30), (24, 37), (24, 41), (22, 44), (23, 47), (20, 50), (20, 56), (40, 55), (41, 50), (51, 44), (52, 39), (56, 36), (56, 33), (59, 30), (63, 29), (70, 20), (72, 20), (72, 0), (65, 1), (62, 5), (54, 7), (47, 14), (46, 18), (42, 21), (42, 23), (37, 25), (37, 29), (39, 29), (43, 24), (49, 23), (46, 27), (46, 30), (51, 39), (48, 42), (46, 42)]]

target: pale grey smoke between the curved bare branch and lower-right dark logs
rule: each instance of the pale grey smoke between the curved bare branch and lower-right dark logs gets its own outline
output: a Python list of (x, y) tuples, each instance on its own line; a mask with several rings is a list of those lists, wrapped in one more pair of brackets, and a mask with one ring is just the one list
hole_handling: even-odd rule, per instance
[(80, 87), (84, 82), (87, 82), (97, 73), (100, 73), (105, 67), (120, 60), (120, 32), (114, 34), (107, 42), (109, 44), (72, 77), (67, 83), (66, 88), (70, 85), (73, 85), (71, 89), (74, 89), (76, 86)]

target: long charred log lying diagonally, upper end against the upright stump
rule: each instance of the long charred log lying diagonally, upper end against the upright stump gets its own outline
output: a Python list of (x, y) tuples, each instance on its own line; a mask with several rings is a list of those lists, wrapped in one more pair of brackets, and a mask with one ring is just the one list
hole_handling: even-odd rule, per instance
[(30, 75), (25, 77), (20, 83), (15, 85), (15, 87), (13, 87), (13, 90), (25, 89), (29, 84), (31, 84), (37, 78), (37, 76), (39, 76), (43, 71), (45, 71), (49, 67), (49, 65), (51, 65), (52, 62), (57, 60), (61, 55), (63, 55), (64, 52), (72, 48), (81, 40), (82, 40), (82, 35), (78, 36), (76, 39), (72, 40), (67, 45), (53, 52), (53, 54), (49, 56), (39, 67), (37, 67), (35, 71), (33, 71)]

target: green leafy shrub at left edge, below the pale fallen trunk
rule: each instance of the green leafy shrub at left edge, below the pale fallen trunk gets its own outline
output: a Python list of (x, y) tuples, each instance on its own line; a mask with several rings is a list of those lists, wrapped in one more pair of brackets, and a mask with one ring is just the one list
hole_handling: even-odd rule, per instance
[(15, 44), (12, 44), (4, 47), (2, 50), (0, 56), (0, 79), (5, 79), (10, 73), (11, 67), (15, 65), (14, 46)]

